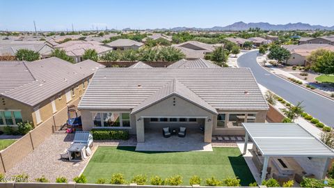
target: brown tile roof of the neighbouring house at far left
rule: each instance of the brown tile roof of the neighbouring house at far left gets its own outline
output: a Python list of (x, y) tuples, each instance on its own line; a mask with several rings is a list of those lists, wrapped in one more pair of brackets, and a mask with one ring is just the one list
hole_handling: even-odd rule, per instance
[[(13, 65), (9, 65), (9, 63), (13, 63)], [(0, 81), (0, 88), (3, 88), (1, 95), (35, 106), (78, 81), (93, 75), (97, 68), (103, 67), (100, 63), (90, 60), (72, 64), (56, 57), (32, 62), (1, 62), (0, 72), (11, 71), (11, 74), (5, 75), (4, 79), (7, 82)], [(18, 68), (19, 72), (15, 68)], [(18, 75), (22, 78), (18, 79)], [(2, 77), (0, 78), (2, 79)], [(13, 87), (8, 87), (8, 84), (12, 83)]]

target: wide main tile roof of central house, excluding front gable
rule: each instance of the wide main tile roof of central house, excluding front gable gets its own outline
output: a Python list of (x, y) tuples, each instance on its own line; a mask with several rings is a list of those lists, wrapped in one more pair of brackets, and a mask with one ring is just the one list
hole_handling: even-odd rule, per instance
[(134, 109), (177, 79), (214, 109), (267, 110), (248, 68), (102, 68), (81, 99), (81, 109)]

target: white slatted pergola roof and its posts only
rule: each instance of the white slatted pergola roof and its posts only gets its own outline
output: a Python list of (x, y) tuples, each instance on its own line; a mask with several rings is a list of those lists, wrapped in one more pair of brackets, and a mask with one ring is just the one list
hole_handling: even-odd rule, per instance
[[(269, 157), (319, 157), (327, 158), (326, 166), (334, 152), (296, 123), (242, 123), (246, 130), (244, 154), (248, 138), (264, 157), (261, 182), (265, 179)], [(326, 172), (324, 172), (326, 174)]]

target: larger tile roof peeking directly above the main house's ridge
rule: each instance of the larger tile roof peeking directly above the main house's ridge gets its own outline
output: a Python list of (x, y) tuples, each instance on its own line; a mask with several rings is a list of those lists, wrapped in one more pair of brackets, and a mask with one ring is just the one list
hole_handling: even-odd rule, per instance
[(221, 68), (221, 67), (202, 58), (194, 60), (186, 60), (182, 58), (180, 61), (176, 61), (175, 63), (169, 65), (167, 68)]

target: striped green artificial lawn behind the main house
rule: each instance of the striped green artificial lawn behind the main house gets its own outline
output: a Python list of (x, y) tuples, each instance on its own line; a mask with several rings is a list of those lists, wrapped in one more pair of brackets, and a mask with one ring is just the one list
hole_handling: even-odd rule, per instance
[(159, 175), (167, 178), (180, 174), (183, 185), (189, 185), (191, 175), (199, 175), (202, 185), (205, 178), (239, 177), (241, 185), (255, 182), (239, 148), (214, 148), (214, 152), (136, 152), (136, 147), (100, 146), (84, 171), (88, 182), (98, 178), (108, 182), (113, 173), (123, 173), (127, 180), (134, 175)]

